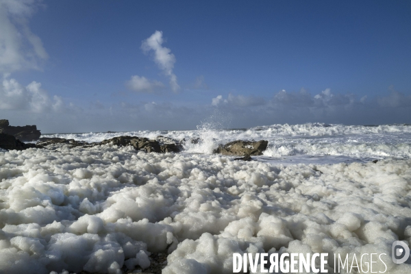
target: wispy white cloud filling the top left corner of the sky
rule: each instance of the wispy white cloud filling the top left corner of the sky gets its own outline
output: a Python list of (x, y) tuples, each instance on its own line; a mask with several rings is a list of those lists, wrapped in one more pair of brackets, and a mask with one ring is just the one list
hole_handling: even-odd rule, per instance
[(28, 25), (39, 3), (37, 0), (0, 0), (1, 73), (39, 69), (40, 63), (48, 58), (40, 38)]

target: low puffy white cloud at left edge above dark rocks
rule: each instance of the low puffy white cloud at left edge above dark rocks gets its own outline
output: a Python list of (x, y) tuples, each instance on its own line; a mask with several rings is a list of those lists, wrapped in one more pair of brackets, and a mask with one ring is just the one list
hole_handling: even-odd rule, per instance
[(64, 103), (58, 96), (49, 97), (38, 82), (27, 86), (19, 84), (16, 79), (3, 79), (0, 86), (0, 110), (27, 110), (29, 112), (59, 112)]

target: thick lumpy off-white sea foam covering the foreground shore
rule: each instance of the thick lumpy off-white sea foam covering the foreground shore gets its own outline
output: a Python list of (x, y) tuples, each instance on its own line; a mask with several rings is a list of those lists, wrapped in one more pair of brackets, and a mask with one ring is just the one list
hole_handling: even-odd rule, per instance
[[(0, 272), (232, 273), (232, 253), (386, 253), (411, 240), (411, 160), (242, 162), (97, 146), (0, 151)], [(329, 260), (329, 272), (334, 261)], [(374, 263), (373, 271), (384, 271)]]

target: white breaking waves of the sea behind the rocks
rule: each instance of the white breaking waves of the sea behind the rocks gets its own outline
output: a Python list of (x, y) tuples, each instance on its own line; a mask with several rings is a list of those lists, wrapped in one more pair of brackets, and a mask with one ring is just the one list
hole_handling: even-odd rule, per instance
[(186, 131), (138, 131), (83, 134), (48, 134), (86, 142), (122, 136), (157, 138), (166, 136), (175, 140), (200, 138), (200, 143), (184, 143), (187, 153), (212, 153), (219, 145), (233, 140), (268, 140), (264, 151), (267, 157), (290, 155), (345, 155), (353, 158), (411, 158), (411, 125), (327, 125), (308, 123), (303, 125), (269, 125), (250, 129), (212, 129), (203, 125), (199, 130)]

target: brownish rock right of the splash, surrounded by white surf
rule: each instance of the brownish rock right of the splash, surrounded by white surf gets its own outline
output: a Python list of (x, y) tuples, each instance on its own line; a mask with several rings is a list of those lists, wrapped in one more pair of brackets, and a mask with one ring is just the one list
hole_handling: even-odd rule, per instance
[(267, 145), (269, 145), (269, 142), (266, 140), (260, 140), (258, 142), (235, 140), (225, 145), (220, 145), (217, 149), (214, 149), (213, 153), (237, 156), (262, 155), (262, 151), (266, 150)]

